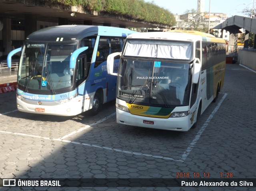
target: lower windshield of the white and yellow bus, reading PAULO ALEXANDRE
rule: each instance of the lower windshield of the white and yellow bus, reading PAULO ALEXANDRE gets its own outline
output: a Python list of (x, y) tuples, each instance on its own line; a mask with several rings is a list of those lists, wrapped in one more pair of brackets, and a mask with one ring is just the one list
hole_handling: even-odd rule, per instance
[(121, 58), (117, 98), (161, 107), (187, 106), (190, 73), (189, 63)]

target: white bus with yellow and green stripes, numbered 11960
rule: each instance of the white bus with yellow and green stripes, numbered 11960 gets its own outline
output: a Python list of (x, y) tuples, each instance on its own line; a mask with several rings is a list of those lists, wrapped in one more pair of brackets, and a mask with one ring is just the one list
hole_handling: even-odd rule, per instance
[[(120, 55), (118, 73), (114, 57)], [(117, 75), (119, 124), (188, 131), (224, 82), (225, 40), (201, 32), (134, 33), (121, 53), (108, 56)]]

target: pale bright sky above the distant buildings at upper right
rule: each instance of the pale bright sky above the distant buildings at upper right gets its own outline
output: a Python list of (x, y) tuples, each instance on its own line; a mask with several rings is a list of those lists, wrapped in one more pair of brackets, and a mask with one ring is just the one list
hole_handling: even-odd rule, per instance
[[(198, 0), (144, 0), (145, 2), (154, 1), (155, 5), (169, 10), (172, 14), (184, 14), (186, 10), (197, 8)], [(244, 9), (256, 9), (256, 0), (204, 0), (204, 12), (209, 12), (209, 2), (211, 13), (226, 13), (228, 17), (233, 15), (244, 16)]]

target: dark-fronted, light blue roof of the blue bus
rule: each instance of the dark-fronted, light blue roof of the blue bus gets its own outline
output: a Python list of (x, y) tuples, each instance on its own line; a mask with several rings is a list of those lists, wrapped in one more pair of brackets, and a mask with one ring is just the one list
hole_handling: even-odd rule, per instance
[(56, 41), (61, 39), (62, 41), (70, 41), (76, 39), (82, 39), (91, 35), (103, 35), (103, 36), (128, 36), (135, 31), (131, 31), (125, 28), (115, 28), (107, 26), (91, 26), (91, 25), (62, 25), (53, 26), (38, 30), (28, 35), (29, 41)]

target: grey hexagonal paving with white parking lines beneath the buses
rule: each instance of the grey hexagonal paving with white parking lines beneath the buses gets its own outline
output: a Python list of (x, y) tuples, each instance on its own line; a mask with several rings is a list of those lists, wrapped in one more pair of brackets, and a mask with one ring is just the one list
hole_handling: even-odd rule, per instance
[[(226, 65), (224, 88), (195, 129), (173, 132), (116, 124), (115, 102), (76, 117), (18, 112), (0, 95), (1, 178), (175, 178), (220, 172), (256, 178), (256, 73)], [(250, 187), (22, 187), (21, 190), (256, 190)], [(2, 187), (0, 190), (18, 190)]]

